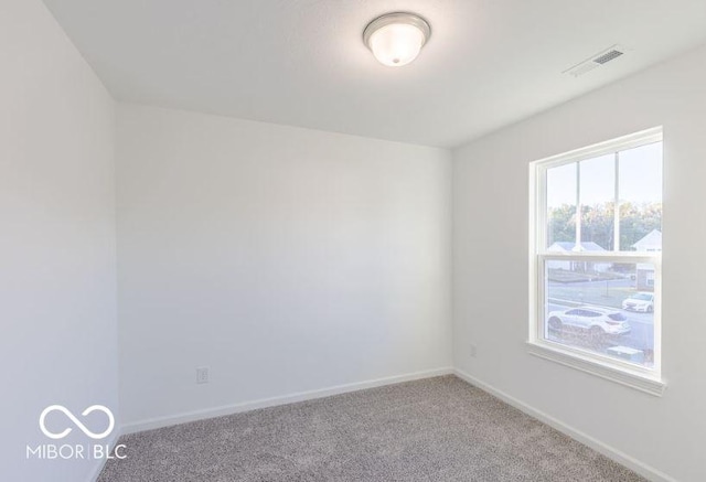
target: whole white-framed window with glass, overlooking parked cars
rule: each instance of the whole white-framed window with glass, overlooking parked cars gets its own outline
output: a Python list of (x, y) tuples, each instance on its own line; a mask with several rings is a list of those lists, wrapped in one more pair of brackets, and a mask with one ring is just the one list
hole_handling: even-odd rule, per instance
[(530, 352), (661, 395), (662, 129), (531, 164)]

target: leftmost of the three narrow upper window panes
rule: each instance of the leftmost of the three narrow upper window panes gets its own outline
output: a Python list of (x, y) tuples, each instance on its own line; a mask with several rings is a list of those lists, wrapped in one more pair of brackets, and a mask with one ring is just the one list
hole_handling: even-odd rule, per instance
[(576, 162), (547, 169), (547, 248), (576, 246)]

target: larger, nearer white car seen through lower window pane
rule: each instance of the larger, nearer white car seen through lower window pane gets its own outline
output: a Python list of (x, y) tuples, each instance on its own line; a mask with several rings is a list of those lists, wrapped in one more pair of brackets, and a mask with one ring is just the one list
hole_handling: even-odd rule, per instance
[(552, 311), (547, 320), (550, 330), (560, 331), (565, 326), (577, 328), (590, 333), (592, 339), (628, 334), (631, 330), (624, 314), (606, 308), (578, 307), (566, 311)]

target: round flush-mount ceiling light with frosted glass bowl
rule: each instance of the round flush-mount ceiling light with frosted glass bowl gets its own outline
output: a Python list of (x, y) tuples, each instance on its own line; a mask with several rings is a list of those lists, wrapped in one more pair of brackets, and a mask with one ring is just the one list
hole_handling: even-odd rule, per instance
[(402, 67), (417, 58), (430, 35), (431, 28), (421, 17), (395, 12), (368, 23), (363, 31), (363, 42), (381, 64)]

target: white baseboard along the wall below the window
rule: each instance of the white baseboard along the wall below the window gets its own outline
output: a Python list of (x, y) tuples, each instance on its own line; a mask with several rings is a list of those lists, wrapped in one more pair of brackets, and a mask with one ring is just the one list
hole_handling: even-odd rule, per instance
[(577, 430), (574, 427), (570, 427), (564, 424), (560, 420), (557, 420), (556, 418), (545, 414), (544, 411), (541, 411), (534, 407), (531, 407), (524, 401), (521, 401), (517, 398), (514, 398), (507, 395), (506, 393), (501, 392), (498, 388), (484, 382), (481, 382), (480, 379), (469, 375), (468, 373), (461, 369), (454, 368), (453, 373), (456, 376), (463, 379), (464, 382), (468, 382), (469, 384), (482, 389), (483, 392), (488, 392), (489, 394), (500, 398), (507, 405), (511, 405), (516, 409), (524, 411), (525, 414), (536, 418), (537, 420), (548, 425), (549, 427), (573, 438), (574, 440), (577, 440), (584, 443), (585, 446), (596, 450), (597, 452), (608, 457), (609, 459), (620, 463), (621, 465), (627, 467), (628, 469), (632, 470), (633, 472), (642, 475), (643, 478), (652, 482), (676, 482), (676, 479), (671, 478), (670, 475), (663, 472), (660, 472), (659, 470), (648, 465), (646, 463), (641, 462), (640, 460), (634, 459), (633, 457), (630, 457), (627, 453), (623, 453), (620, 450), (617, 450), (601, 442), (600, 440), (595, 439), (593, 437), (586, 435), (582, 431)]

